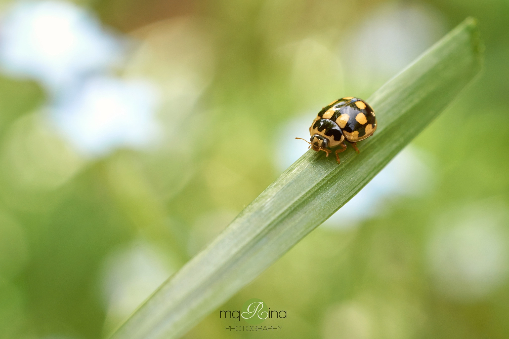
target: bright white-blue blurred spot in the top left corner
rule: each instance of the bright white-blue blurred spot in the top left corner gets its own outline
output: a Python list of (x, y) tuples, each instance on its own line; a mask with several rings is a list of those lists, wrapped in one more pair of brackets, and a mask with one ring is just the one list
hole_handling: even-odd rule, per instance
[(121, 59), (122, 43), (67, 2), (19, 2), (2, 23), (0, 63), (11, 75), (40, 81), (53, 93)]

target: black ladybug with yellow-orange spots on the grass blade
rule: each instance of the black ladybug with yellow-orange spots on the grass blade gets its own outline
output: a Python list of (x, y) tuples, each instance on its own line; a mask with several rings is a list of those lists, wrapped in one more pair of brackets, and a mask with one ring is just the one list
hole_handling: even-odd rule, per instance
[(364, 100), (354, 97), (346, 97), (334, 100), (323, 107), (318, 113), (313, 124), (309, 127), (311, 139), (306, 141), (313, 150), (329, 153), (330, 148), (341, 146), (334, 152), (336, 161), (340, 163), (338, 153), (347, 149), (345, 141), (348, 141), (357, 153), (357, 141), (373, 135), (377, 129), (375, 112)]

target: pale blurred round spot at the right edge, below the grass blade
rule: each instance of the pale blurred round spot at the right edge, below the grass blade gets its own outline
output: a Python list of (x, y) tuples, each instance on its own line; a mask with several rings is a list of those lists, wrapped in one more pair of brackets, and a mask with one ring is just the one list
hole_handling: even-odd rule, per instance
[(427, 246), (428, 267), (440, 294), (476, 301), (505, 282), (507, 214), (505, 206), (490, 201), (442, 215)]

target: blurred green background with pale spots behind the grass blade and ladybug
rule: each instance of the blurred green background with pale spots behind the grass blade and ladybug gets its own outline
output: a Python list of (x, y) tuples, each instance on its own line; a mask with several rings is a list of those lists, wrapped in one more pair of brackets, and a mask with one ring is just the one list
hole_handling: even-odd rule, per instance
[(306, 150), (322, 106), (367, 99), (469, 15), (482, 76), (220, 307), (262, 299), (282, 331), (216, 311), (185, 337), (509, 337), (509, 2), (0, 8), (0, 338), (107, 336)]

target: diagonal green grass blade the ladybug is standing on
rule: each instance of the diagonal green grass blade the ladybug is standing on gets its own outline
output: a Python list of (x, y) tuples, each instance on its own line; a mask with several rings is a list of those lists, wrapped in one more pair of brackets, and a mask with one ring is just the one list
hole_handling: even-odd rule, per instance
[(341, 165), (307, 151), (207, 248), (166, 281), (111, 338), (178, 338), (257, 278), (350, 200), (479, 73), (482, 45), (467, 18), (367, 100), (375, 134)]

